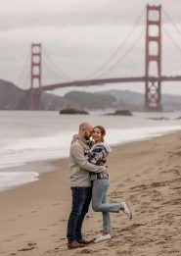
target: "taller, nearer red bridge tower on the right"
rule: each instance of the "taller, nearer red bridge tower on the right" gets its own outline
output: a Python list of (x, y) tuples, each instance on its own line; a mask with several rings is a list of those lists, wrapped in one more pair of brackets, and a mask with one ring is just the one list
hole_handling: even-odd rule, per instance
[[(154, 33), (154, 34), (153, 34)], [(153, 47), (153, 48), (152, 48)], [(155, 49), (152, 53), (151, 50)], [(145, 108), (147, 110), (161, 110), (160, 81), (150, 81), (151, 63), (156, 63), (156, 74), (161, 76), (161, 6), (147, 5), (146, 27), (146, 58), (145, 58)]]

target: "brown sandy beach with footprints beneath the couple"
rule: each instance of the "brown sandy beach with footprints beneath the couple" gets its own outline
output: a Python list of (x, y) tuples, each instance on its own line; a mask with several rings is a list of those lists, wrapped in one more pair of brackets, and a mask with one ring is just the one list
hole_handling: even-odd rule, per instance
[[(181, 132), (113, 147), (110, 202), (128, 201), (133, 219), (112, 214), (112, 239), (68, 250), (68, 159), (27, 164), (52, 172), (0, 192), (0, 255), (181, 255)], [(101, 213), (90, 208), (83, 233), (98, 236)]]

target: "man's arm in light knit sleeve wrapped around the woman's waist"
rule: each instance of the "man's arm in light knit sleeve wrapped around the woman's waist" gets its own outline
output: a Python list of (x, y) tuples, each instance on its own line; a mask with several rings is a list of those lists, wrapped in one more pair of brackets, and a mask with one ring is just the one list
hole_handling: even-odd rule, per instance
[(77, 142), (71, 145), (71, 153), (81, 169), (94, 173), (101, 173), (107, 171), (107, 167), (105, 166), (96, 166), (89, 163), (84, 156), (83, 148), (81, 148), (81, 146), (78, 145)]

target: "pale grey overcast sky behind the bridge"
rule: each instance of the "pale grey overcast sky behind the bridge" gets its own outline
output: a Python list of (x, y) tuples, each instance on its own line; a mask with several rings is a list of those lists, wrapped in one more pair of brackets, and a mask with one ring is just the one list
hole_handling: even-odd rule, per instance
[[(42, 44), (43, 84), (65, 81), (62, 72), (72, 79), (144, 76), (148, 3), (163, 7), (162, 75), (181, 75), (180, 0), (0, 0), (0, 78), (29, 86), (32, 42)], [(144, 84), (100, 90), (109, 88), (144, 92)], [(181, 82), (163, 83), (162, 92), (181, 94)]]

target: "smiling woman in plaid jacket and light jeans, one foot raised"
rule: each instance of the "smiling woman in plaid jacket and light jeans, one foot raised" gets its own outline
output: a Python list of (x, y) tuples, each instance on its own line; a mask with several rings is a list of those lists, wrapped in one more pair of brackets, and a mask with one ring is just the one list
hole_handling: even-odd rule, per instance
[[(78, 142), (85, 150), (86, 159), (95, 165), (105, 165), (107, 157), (111, 152), (110, 146), (104, 141), (106, 135), (105, 128), (97, 126), (93, 129), (92, 138), (94, 141), (88, 141), (88, 148), (82, 141)], [(130, 219), (132, 219), (131, 211), (126, 202), (122, 204), (108, 204), (107, 191), (110, 186), (110, 179), (108, 174), (90, 173), (92, 180), (92, 208), (95, 212), (102, 212), (103, 215), (103, 232), (100, 237), (96, 238), (95, 242), (111, 238), (111, 220), (110, 212), (119, 213), (123, 211)]]

